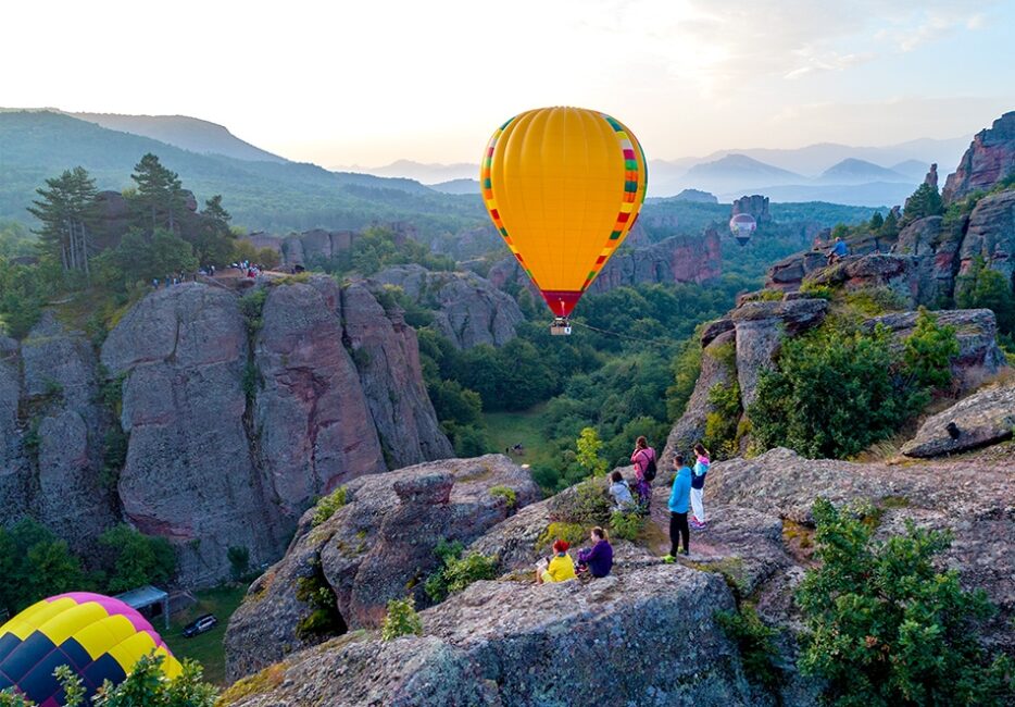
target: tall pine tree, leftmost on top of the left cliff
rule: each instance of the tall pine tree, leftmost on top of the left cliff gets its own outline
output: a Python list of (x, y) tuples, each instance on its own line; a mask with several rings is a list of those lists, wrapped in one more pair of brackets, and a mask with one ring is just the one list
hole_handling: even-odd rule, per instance
[(64, 272), (89, 274), (89, 258), (93, 255), (90, 233), (96, 221), (95, 179), (80, 166), (66, 170), (59, 177), (46, 179), (46, 187), (36, 189), (41, 197), (33, 201), (28, 212), (39, 220), (39, 248), (43, 257), (59, 262)]

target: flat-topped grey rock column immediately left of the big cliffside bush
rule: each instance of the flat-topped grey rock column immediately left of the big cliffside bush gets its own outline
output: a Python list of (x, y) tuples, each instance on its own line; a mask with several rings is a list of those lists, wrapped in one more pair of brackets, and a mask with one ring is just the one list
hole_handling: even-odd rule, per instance
[(745, 302), (732, 311), (736, 326), (737, 380), (747, 410), (754, 402), (757, 377), (773, 367), (785, 336), (795, 336), (825, 320), (824, 299)]

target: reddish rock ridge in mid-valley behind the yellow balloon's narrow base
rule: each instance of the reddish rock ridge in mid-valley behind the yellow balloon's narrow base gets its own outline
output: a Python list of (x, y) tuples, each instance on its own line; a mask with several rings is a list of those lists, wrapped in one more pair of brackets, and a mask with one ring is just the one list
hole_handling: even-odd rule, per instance
[[(673, 236), (657, 244), (630, 250), (621, 249), (589, 286), (591, 295), (615, 287), (642, 284), (702, 283), (723, 274), (722, 246), (714, 230), (703, 236)], [(496, 287), (531, 287), (517, 261), (505, 259), (490, 269)], [(532, 289), (539, 300), (538, 290)]]

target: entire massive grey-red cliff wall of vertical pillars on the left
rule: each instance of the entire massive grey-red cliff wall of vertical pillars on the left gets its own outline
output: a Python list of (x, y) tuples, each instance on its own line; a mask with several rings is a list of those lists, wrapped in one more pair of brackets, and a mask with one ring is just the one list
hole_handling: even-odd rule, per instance
[[(397, 313), (323, 276), (258, 292), (160, 289), (99, 355), (51, 314), (21, 344), (0, 339), (5, 518), (32, 514), (78, 548), (126, 518), (168, 538), (180, 582), (202, 586), (228, 576), (230, 547), (277, 559), (336, 485), (451, 456)], [(121, 444), (125, 459), (110, 457)]]

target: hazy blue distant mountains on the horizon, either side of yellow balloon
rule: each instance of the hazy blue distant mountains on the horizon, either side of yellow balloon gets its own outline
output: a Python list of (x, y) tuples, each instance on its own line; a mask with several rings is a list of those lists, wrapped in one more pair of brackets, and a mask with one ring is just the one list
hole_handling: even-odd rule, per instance
[[(823, 200), (853, 206), (892, 206), (923, 181), (931, 162), (947, 173), (972, 137), (920, 138), (885, 147), (823, 142), (797, 149), (719, 150), (702, 158), (649, 160), (649, 195), (703, 189), (731, 200), (764, 194), (779, 201)], [(377, 176), (406, 176), (441, 190), (466, 187), (476, 164), (424, 164), (399, 160), (380, 168), (346, 168)], [(453, 187), (449, 187), (453, 184)], [(478, 185), (476, 185), (478, 188)]]

